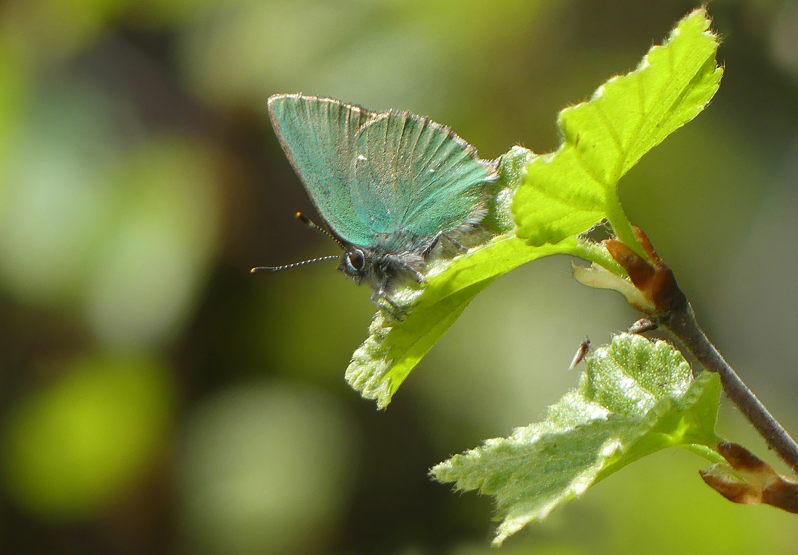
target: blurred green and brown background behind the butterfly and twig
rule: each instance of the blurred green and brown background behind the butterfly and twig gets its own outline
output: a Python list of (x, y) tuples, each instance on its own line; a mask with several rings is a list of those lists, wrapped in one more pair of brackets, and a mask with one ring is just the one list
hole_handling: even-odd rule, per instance
[[(0, 552), (481, 555), (430, 466), (539, 419), (636, 314), (544, 259), (476, 298), (387, 411), (343, 380), (373, 313), (268, 124), (272, 93), (403, 108), (495, 157), (634, 68), (675, 0), (0, 3)], [(798, 0), (716, 0), (713, 104), (623, 179), (630, 219), (798, 432)], [(728, 403), (727, 403), (728, 405)], [(725, 406), (721, 431), (767, 456)], [(768, 459), (772, 461), (772, 457)], [(798, 553), (665, 451), (509, 555)], [(783, 468), (783, 466), (779, 466)], [(490, 552), (493, 553), (493, 552)]]

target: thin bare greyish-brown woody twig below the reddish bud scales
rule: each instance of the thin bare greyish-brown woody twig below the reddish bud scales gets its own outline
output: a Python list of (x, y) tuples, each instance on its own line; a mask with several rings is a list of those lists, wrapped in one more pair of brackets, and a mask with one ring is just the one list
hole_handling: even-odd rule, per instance
[(745, 385), (737, 372), (729, 366), (717, 348), (709, 341), (698, 326), (693, 307), (688, 303), (658, 317), (658, 323), (665, 326), (693, 353), (698, 362), (709, 372), (721, 377), (723, 391), (740, 409), (745, 418), (760, 433), (773, 451), (798, 474), (798, 444), (773, 418), (757, 396)]

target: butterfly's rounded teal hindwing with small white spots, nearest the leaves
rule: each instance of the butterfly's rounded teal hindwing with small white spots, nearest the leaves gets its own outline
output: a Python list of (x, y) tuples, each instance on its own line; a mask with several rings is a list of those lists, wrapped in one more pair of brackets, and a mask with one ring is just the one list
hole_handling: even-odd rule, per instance
[(479, 219), (491, 171), (451, 129), (408, 112), (380, 112), (358, 134), (352, 205), (374, 231), (429, 238)]

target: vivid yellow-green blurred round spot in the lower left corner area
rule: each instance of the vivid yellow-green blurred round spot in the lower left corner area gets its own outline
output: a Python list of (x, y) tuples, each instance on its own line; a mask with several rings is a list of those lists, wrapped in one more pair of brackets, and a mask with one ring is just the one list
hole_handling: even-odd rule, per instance
[(172, 384), (143, 360), (86, 359), (18, 400), (3, 438), (6, 485), (54, 521), (96, 517), (168, 441)]

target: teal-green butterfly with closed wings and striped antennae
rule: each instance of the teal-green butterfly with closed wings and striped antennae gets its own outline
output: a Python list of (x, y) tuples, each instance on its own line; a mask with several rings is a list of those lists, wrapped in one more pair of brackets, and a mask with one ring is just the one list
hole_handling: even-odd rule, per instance
[(441, 240), (464, 248), (456, 236), (484, 218), (486, 183), (496, 179), (498, 161), (480, 159), (450, 128), (409, 112), (302, 94), (271, 96), (268, 108), (282, 150), (330, 231), (297, 217), (338, 242), (338, 269), (371, 285), (371, 301), (402, 319), (392, 297), (397, 281), (425, 283), (427, 259)]

